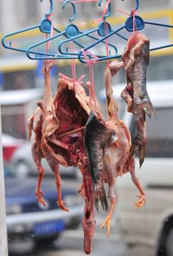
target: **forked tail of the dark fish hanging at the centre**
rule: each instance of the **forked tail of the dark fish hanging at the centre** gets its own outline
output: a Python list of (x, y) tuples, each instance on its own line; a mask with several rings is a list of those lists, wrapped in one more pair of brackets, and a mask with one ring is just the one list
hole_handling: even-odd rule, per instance
[(96, 207), (96, 210), (99, 211), (99, 200), (101, 202), (101, 206), (104, 211), (108, 210), (108, 203), (107, 203), (107, 196), (104, 190), (104, 184), (94, 184), (94, 206)]

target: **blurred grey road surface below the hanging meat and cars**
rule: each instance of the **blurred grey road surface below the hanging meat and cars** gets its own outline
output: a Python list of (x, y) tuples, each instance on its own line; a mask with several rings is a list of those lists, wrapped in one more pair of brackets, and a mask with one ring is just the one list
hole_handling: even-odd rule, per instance
[[(117, 224), (112, 223), (111, 236), (108, 239), (106, 230), (100, 230), (99, 225), (103, 218), (97, 219), (96, 232), (93, 238), (91, 256), (154, 256), (150, 248), (135, 246), (127, 248), (120, 236)], [(66, 230), (63, 236), (47, 248), (36, 248), (33, 243), (15, 244), (9, 256), (84, 256), (82, 250), (83, 233), (82, 226), (77, 230)]]

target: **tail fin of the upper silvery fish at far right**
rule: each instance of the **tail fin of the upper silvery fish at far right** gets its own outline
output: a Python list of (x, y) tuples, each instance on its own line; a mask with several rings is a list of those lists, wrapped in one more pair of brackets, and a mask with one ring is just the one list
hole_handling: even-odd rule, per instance
[(140, 118), (142, 116), (142, 110), (147, 113), (147, 116), (155, 116), (155, 120), (157, 119), (155, 109), (153, 108), (152, 102), (150, 101), (150, 97), (148, 96), (147, 92), (145, 94), (145, 101), (143, 100), (139, 105), (134, 102), (134, 118)]

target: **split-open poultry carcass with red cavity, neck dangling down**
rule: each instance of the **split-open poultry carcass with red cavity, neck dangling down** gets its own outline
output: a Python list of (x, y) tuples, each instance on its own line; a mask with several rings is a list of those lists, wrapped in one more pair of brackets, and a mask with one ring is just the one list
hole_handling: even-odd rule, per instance
[[(57, 93), (53, 99), (53, 111), (47, 109), (44, 100), (38, 102), (42, 110), (42, 143), (44, 155), (55, 173), (58, 189), (58, 206), (68, 211), (61, 200), (61, 177), (58, 174), (58, 164), (64, 166), (79, 166), (82, 173), (80, 194), (85, 200), (84, 218), (84, 251), (91, 252), (91, 240), (96, 221), (93, 216), (93, 188), (85, 154), (82, 133), (91, 109), (88, 99), (80, 83), (59, 79)], [(91, 102), (93, 100), (91, 99)], [(98, 106), (99, 108), (99, 106)], [(51, 128), (52, 127), (52, 128)]]

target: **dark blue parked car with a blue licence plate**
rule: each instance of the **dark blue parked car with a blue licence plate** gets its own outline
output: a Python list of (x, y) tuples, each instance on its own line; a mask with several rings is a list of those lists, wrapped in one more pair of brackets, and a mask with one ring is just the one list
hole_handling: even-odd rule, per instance
[(57, 206), (57, 191), (53, 178), (45, 178), (46, 207), (36, 201), (36, 178), (20, 178), (16, 170), (4, 162), (7, 233), (9, 246), (14, 241), (34, 240), (36, 244), (50, 244), (66, 228), (77, 228), (81, 223), (83, 203), (71, 182), (64, 184), (62, 198), (69, 208), (64, 212)]

